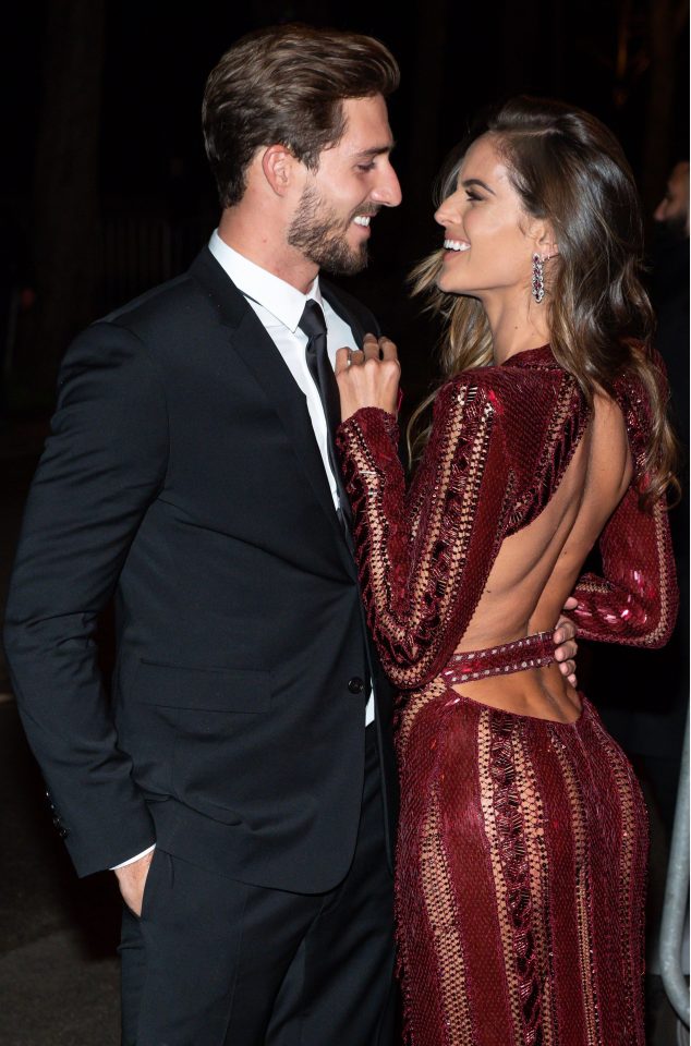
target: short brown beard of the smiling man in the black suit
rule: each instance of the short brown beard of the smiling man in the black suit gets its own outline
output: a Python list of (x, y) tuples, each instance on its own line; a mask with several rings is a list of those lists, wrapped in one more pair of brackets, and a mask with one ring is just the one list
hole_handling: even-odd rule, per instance
[(290, 223), (288, 243), (334, 276), (354, 276), (367, 265), (367, 241), (352, 247), (346, 235), (355, 215), (362, 214), (376, 211), (372, 207), (362, 208), (346, 220), (339, 218), (317, 190), (308, 185)]

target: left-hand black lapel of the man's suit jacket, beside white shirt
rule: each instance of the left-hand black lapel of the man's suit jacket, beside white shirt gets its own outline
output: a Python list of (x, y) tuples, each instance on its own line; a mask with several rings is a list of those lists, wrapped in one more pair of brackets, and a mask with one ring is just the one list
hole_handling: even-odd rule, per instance
[(278, 414), (306, 481), (337, 535), (343, 561), (352, 573), (354, 571), (352, 555), (346, 544), (334, 507), (324, 462), (302, 390), (295, 384), (256, 313), (208, 248), (197, 257), (190, 272), (202, 283), (217, 308), (219, 319), (227, 328), (231, 349)]

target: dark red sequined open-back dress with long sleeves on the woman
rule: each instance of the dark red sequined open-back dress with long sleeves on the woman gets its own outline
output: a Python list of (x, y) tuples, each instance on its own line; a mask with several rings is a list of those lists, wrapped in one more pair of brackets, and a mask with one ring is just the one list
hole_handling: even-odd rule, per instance
[[(648, 424), (617, 384), (640, 474)], [(408, 491), (395, 418), (340, 426), (363, 599), (401, 691), (397, 911), (413, 1046), (643, 1046), (646, 816), (597, 713), (498, 710), (452, 683), (553, 660), (549, 634), (453, 655), (501, 542), (536, 519), (589, 421), (548, 348), (440, 390)], [(632, 484), (584, 575), (584, 638), (659, 646), (676, 615), (666, 513)]]

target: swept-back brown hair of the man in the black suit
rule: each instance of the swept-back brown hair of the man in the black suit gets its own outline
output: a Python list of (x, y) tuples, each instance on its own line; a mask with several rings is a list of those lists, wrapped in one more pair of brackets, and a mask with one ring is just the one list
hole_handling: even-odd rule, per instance
[(247, 167), (262, 146), (284, 145), (311, 170), (346, 131), (346, 98), (388, 97), (396, 59), (356, 33), (279, 25), (242, 37), (211, 73), (202, 124), (222, 207), (238, 204)]

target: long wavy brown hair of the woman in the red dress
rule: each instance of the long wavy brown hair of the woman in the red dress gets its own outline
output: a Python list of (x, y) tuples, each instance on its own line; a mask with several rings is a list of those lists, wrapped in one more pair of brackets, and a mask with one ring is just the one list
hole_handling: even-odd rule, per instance
[[(627, 373), (643, 384), (652, 431), (640, 481), (642, 503), (652, 506), (670, 484), (677, 442), (667, 419), (667, 385), (650, 350), (653, 312), (641, 283), (643, 223), (633, 175), (611, 132), (582, 109), (541, 98), (518, 97), (495, 110), (468, 136), (443, 171), (444, 199), (457, 187), (463, 155), (490, 134), (525, 214), (547, 219), (559, 254), (545, 266), (550, 345), (557, 362), (593, 394), (611, 394)], [(492, 331), (484, 306), (473, 297), (440, 291), (443, 252), (412, 273), (414, 292), (427, 292), (446, 330), (445, 376), (493, 363)], [(526, 280), (526, 287), (528, 287)], [(419, 408), (410, 431), (436, 392)], [(420, 434), (413, 455), (424, 443)], [(643, 476), (645, 477), (643, 479)]]

